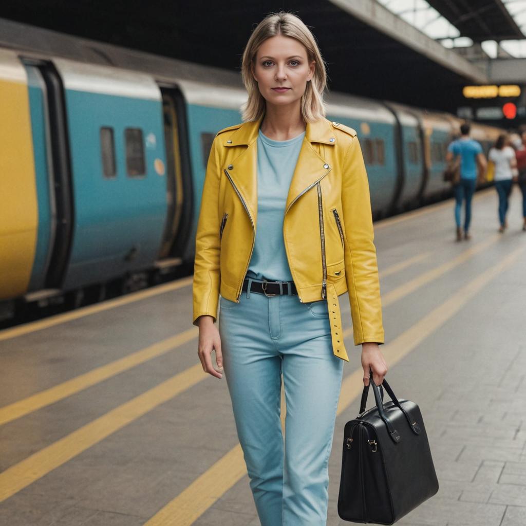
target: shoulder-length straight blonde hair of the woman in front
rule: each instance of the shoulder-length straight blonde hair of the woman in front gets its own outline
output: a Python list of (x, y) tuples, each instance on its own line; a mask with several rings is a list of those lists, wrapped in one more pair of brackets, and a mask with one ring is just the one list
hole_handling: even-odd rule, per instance
[(301, 96), (301, 115), (305, 122), (312, 123), (325, 117), (325, 102), (323, 92), (327, 88), (327, 72), (325, 61), (314, 35), (304, 22), (296, 15), (280, 11), (270, 13), (257, 25), (243, 52), (241, 59), (241, 78), (248, 92), (248, 100), (241, 107), (241, 117), (244, 121), (258, 120), (265, 114), (266, 100), (259, 92), (256, 79), (252, 75), (250, 64), (256, 59), (261, 44), (275, 35), (295, 38), (307, 50), (308, 62), (316, 61), (312, 78), (307, 82), (305, 93)]

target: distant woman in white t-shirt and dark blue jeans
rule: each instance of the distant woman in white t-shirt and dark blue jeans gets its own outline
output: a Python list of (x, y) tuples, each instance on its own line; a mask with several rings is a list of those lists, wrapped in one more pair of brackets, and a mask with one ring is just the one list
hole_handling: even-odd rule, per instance
[(513, 180), (512, 169), (517, 168), (515, 151), (510, 146), (510, 138), (507, 134), (501, 134), (495, 142), (495, 146), (490, 148), (488, 159), (495, 165), (493, 180), (499, 195), (499, 232), (503, 232), (508, 227), (506, 214), (508, 212), (509, 197)]

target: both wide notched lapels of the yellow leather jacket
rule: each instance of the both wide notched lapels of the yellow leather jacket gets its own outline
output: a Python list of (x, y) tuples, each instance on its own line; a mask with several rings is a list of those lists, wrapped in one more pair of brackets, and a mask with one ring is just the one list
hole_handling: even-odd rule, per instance
[[(257, 138), (261, 125), (262, 117), (242, 124), (232, 135), (231, 142), (224, 140), (226, 147), (246, 145), (244, 151), (233, 161), (223, 166), (228, 171), (232, 182), (244, 199), (248, 213), (251, 216), (254, 226), (257, 221)], [(332, 141), (331, 141), (332, 139)], [(332, 128), (327, 119), (322, 118), (315, 123), (307, 123), (305, 138), (301, 144), (301, 149), (296, 163), (292, 180), (287, 195), (285, 213), (290, 205), (302, 194), (309, 189), (319, 179), (329, 173), (331, 166), (325, 158), (320, 155), (315, 148), (319, 149), (316, 143), (333, 146), (335, 138)], [(231, 166), (231, 168), (229, 168)], [(328, 166), (326, 168), (325, 166)]]

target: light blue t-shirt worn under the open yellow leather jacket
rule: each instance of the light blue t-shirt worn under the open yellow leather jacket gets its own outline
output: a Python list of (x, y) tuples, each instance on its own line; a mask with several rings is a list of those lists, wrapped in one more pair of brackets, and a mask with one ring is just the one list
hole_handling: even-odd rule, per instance
[(283, 239), (283, 219), (290, 181), (304, 137), (305, 131), (292, 139), (274, 140), (259, 130), (258, 217), (248, 277), (292, 281)]

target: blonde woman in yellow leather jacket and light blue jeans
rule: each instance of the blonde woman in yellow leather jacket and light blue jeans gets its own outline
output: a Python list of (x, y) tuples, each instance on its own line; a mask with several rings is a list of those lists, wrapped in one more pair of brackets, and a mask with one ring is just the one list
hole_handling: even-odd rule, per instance
[(367, 173), (356, 132), (325, 118), (325, 64), (297, 16), (261, 21), (241, 73), (244, 123), (213, 141), (197, 226), (198, 355), (212, 376), (224, 366), (262, 526), (321, 526), (349, 361), (338, 296), (349, 295), (364, 384), (387, 373)]

